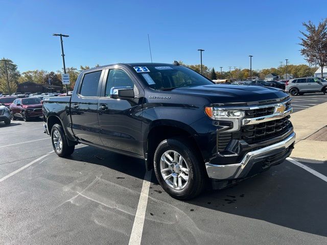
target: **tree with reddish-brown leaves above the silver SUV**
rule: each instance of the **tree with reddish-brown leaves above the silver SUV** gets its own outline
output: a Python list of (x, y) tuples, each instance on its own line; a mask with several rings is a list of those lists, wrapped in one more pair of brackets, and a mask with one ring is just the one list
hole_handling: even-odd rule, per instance
[(323, 77), (323, 67), (327, 65), (327, 18), (319, 22), (318, 26), (311, 21), (303, 22), (307, 32), (300, 33), (301, 55), (312, 64), (319, 65), (321, 68), (321, 77)]

